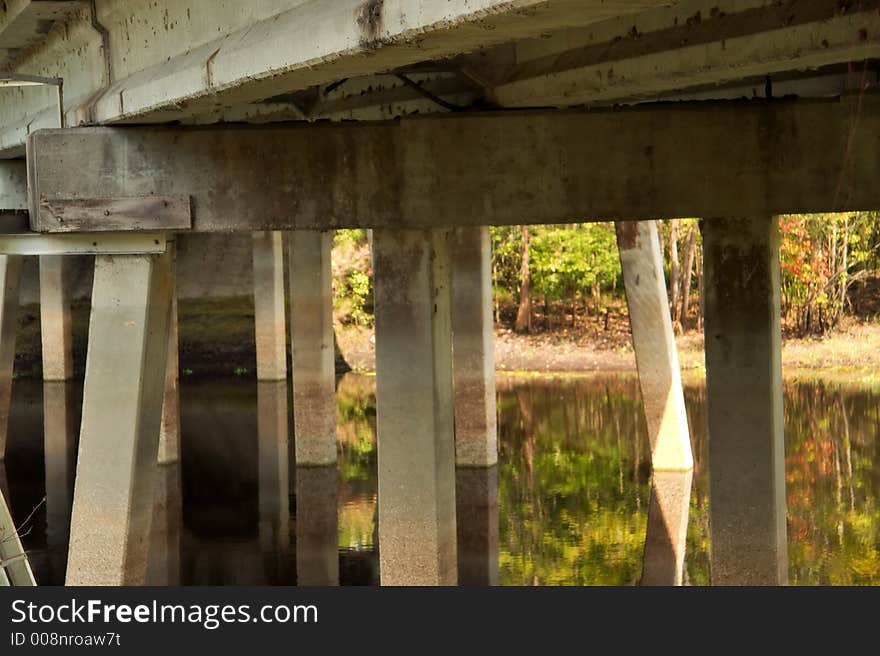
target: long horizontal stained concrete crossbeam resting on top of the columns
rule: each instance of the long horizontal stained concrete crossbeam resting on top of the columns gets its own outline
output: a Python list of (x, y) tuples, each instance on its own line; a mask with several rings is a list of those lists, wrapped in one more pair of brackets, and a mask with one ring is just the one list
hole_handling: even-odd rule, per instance
[[(871, 210), (880, 207), (878, 134), (880, 96), (865, 95), (78, 128), (31, 135), (28, 162), (32, 209), (43, 199), (187, 193), (196, 231), (421, 229)], [(35, 230), (53, 229), (37, 217)]]

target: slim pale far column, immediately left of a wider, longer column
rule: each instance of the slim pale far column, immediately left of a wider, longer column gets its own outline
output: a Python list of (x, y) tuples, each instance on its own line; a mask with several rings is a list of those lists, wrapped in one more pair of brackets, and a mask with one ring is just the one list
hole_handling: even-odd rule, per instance
[(284, 233), (254, 233), (254, 329), (257, 380), (287, 378)]

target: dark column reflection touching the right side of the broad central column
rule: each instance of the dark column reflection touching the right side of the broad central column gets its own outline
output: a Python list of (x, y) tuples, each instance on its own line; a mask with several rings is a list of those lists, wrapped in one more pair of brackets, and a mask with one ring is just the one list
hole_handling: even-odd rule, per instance
[(498, 585), (498, 467), (455, 471), (458, 584)]

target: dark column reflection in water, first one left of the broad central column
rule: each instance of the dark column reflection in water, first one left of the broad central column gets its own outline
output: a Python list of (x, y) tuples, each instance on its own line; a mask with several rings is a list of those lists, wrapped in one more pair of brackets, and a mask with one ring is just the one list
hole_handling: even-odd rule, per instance
[(296, 468), (296, 583), (339, 585), (336, 467)]

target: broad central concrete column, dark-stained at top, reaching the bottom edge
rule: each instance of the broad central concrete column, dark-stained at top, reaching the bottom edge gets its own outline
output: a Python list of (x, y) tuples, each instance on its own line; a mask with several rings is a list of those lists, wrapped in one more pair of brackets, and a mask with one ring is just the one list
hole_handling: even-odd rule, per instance
[(373, 235), (383, 585), (458, 580), (448, 239)]

